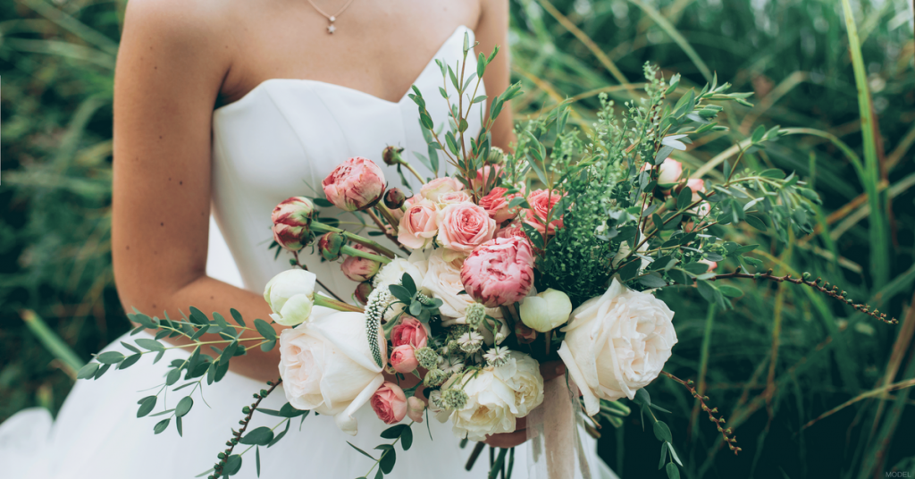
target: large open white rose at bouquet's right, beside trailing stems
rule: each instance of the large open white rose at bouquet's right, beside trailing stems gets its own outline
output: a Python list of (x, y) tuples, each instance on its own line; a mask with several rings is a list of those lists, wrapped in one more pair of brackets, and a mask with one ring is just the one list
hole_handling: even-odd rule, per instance
[(588, 416), (597, 414), (599, 399), (632, 399), (661, 374), (677, 343), (672, 319), (661, 299), (616, 278), (603, 296), (572, 311), (559, 356), (582, 390)]

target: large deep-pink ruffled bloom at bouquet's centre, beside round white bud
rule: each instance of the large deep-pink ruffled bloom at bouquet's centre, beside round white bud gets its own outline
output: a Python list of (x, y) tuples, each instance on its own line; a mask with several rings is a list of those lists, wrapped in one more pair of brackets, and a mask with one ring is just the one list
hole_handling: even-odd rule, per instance
[(487, 308), (520, 301), (533, 286), (531, 245), (519, 238), (496, 238), (464, 260), (460, 279), (470, 298)]

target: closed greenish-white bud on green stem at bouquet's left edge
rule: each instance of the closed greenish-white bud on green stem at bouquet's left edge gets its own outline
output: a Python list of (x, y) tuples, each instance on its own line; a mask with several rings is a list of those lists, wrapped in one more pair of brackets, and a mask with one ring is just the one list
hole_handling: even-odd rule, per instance
[(264, 300), (274, 311), (270, 317), (284, 326), (295, 326), (308, 320), (315, 305), (315, 281), (318, 277), (304, 269), (289, 269), (267, 281)]

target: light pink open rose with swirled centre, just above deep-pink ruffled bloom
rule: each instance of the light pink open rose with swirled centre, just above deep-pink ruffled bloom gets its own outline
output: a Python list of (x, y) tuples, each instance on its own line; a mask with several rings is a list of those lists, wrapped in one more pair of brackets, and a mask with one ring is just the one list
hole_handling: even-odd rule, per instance
[(438, 243), (452, 251), (469, 253), (496, 234), (496, 222), (472, 202), (449, 204), (438, 214)]

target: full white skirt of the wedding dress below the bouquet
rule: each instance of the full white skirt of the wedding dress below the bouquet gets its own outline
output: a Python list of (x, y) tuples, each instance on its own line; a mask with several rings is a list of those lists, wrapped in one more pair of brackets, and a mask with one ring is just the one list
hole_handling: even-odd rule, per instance
[[(145, 332), (140, 334), (149, 337)], [(124, 351), (119, 342), (109, 349)], [(244, 416), (242, 408), (250, 405), (253, 393), (265, 385), (230, 372), (221, 382), (203, 387), (206, 403), (199, 392), (194, 393), (194, 407), (183, 419), (183, 437), (178, 436), (174, 420), (167, 430), (154, 434), (153, 426), (167, 415), (137, 419), (137, 401), (156, 394), (156, 386), (165, 381), (167, 364), (186, 355), (172, 350), (153, 365), (152, 355), (148, 354), (124, 371), (109, 371), (95, 381), (80, 380), (56, 420), (52, 421), (47, 410), (40, 408), (21, 411), (6, 420), (0, 424), (2, 475), (6, 479), (162, 479), (192, 478), (207, 472), (218, 461), (217, 454), (226, 449), (231, 429), (239, 428), (238, 421)], [(167, 397), (160, 395), (153, 414), (174, 408), (191, 387)], [(270, 409), (284, 404), (284, 392), (279, 387), (261, 403)], [(373, 462), (346, 441), (378, 457), (380, 452), (375, 446), (391, 440), (380, 437), (388, 426), (375, 418), (368, 406), (361, 408), (357, 419), (356, 437), (338, 430), (329, 416), (312, 414), (301, 424), (301, 419), (292, 419), (289, 432), (281, 441), (273, 447), (260, 448), (260, 477), (353, 479), (368, 474)], [(473, 443), (461, 449), (450, 423), (430, 419), (414, 424), (414, 443), (409, 451), (396, 446), (396, 464), (388, 477), (485, 478), (489, 454), (481, 454), (473, 469), (465, 471)], [(280, 422), (280, 418), (255, 413), (248, 430), (273, 428)], [(615, 479), (616, 475), (597, 457), (596, 441), (584, 431), (579, 435), (592, 477)], [(511, 474), (515, 479), (529, 477), (529, 444), (515, 448)], [(247, 447), (238, 445), (234, 452)], [(255, 451), (245, 452), (242, 461), (241, 471), (233, 477), (257, 477)]]

